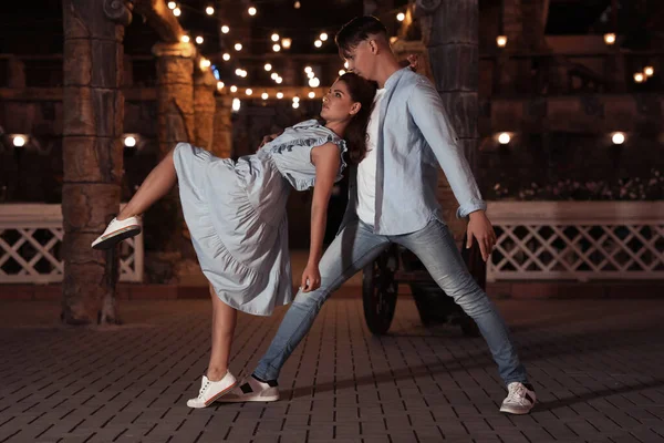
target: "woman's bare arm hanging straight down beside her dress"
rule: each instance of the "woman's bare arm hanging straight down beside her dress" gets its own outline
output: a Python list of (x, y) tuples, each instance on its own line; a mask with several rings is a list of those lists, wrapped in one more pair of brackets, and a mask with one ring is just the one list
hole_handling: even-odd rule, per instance
[(323, 237), (328, 223), (328, 204), (334, 179), (339, 173), (341, 157), (339, 147), (334, 143), (325, 143), (312, 150), (312, 161), (315, 166), (315, 186), (313, 187), (313, 202), (311, 204), (311, 244), (309, 260), (302, 272), (301, 288), (304, 292), (312, 291), (321, 286), (319, 262), (323, 255)]

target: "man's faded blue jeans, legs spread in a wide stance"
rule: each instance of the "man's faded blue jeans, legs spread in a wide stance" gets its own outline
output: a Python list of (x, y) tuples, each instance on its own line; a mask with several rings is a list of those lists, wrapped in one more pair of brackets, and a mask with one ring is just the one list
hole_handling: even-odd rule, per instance
[(526, 383), (526, 369), (519, 361), (502, 318), (468, 272), (447, 226), (436, 219), (421, 230), (398, 236), (376, 235), (362, 222), (345, 226), (321, 259), (321, 287), (311, 292), (298, 292), (253, 374), (261, 380), (277, 380), (281, 367), (309, 332), (330, 295), (373, 261), (391, 243), (413, 251), (445, 293), (475, 320), (505, 383)]

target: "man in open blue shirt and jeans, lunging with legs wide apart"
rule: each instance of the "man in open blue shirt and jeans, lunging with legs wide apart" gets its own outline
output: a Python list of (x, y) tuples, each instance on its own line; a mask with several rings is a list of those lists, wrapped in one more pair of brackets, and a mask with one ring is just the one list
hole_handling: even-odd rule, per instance
[(396, 243), (415, 253), (445, 293), (476, 321), (509, 392), (500, 411), (530, 412), (536, 395), (509, 332), (440, 219), (438, 165), (459, 202), (457, 216), (469, 219), (467, 246), (476, 239), (483, 258), (488, 258), (494, 229), (440, 96), (426, 78), (400, 65), (376, 18), (352, 20), (336, 35), (336, 44), (353, 72), (378, 83), (367, 154), (351, 177), (342, 227), (320, 261), (320, 288), (300, 290), (252, 377), (218, 401), (278, 400), (279, 372), (323, 302)]

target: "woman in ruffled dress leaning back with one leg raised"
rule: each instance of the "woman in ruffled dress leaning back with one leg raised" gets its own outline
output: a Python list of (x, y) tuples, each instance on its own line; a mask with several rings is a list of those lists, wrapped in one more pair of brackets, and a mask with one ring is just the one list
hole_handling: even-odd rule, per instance
[[(210, 281), (212, 346), (207, 374), (190, 408), (205, 408), (232, 389), (228, 370), (237, 311), (269, 316), (292, 299), (286, 203), (290, 188), (314, 186), (311, 246), (301, 286), (320, 286), (328, 202), (345, 167), (366, 152), (375, 83), (345, 73), (323, 97), (321, 119), (287, 128), (237, 162), (179, 143), (153, 169), (92, 247), (107, 249), (141, 231), (138, 217), (177, 182), (191, 241)], [(344, 140), (345, 138), (345, 140)], [(276, 399), (274, 399), (276, 400)]]

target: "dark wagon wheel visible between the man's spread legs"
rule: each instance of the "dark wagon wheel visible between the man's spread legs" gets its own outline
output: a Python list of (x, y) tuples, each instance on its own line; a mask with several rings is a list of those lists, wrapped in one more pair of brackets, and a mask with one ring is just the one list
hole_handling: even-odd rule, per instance
[(394, 275), (398, 256), (396, 247), (390, 247), (363, 269), (362, 301), (364, 318), (372, 333), (383, 334), (390, 329), (396, 307), (398, 282)]

